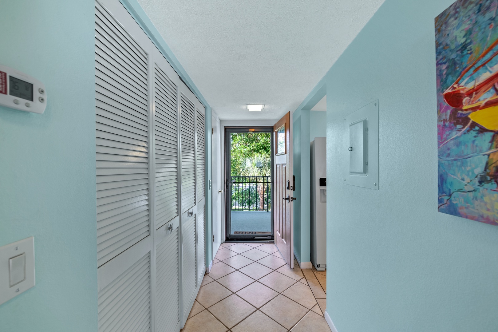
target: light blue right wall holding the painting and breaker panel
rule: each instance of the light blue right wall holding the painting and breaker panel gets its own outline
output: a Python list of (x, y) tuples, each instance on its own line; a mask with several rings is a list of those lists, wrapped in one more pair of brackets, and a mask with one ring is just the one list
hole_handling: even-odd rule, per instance
[[(386, 0), (327, 87), (327, 312), (339, 332), (496, 332), (498, 227), (437, 211), (434, 17)], [(379, 190), (344, 185), (343, 116), (379, 100)]]

